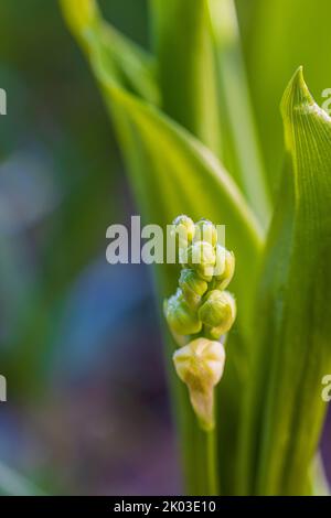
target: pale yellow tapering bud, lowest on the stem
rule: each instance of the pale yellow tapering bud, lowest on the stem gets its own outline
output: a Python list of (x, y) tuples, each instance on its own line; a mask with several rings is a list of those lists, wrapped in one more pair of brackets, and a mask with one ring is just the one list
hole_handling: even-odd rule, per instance
[(214, 428), (214, 387), (222, 378), (225, 350), (220, 342), (196, 338), (173, 355), (180, 379), (186, 384), (192, 407), (201, 427)]

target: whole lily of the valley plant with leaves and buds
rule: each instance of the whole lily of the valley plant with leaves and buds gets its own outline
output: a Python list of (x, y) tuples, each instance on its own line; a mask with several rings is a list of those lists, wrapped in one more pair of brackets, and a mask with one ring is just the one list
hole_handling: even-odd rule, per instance
[[(319, 441), (321, 380), (331, 373), (330, 117), (298, 68), (281, 101), (285, 166), (271, 203), (266, 171), (281, 157), (264, 168), (232, 0), (150, 0), (150, 53), (107, 23), (95, 0), (61, 6), (143, 218), (166, 227), (185, 214), (178, 225), (192, 225), (181, 272), (156, 267), (186, 492), (327, 490)], [(234, 256), (221, 250), (228, 265), (217, 278), (213, 233), (195, 238), (202, 217), (226, 225), (235, 300)], [(202, 265), (190, 260), (194, 247), (204, 249)]]

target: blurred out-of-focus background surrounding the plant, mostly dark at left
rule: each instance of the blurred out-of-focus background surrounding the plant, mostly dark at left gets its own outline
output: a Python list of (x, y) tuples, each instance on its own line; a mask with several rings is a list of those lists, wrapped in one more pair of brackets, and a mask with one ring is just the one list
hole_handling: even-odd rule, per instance
[[(149, 46), (146, 0), (99, 3), (117, 28)], [(328, 24), (312, 17), (302, 26), (302, 34), (316, 30), (322, 55), (297, 44), (280, 66), (285, 26), (273, 22), (273, 3), (237, 2), (271, 192), (287, 80), (303, 63), (318, 101), (331, 87)], [(0, 492), (181, 493), (151, 271), (110, 267), (105, 258), (106, 228), (129, 224), (139, 211), (56, 0), (1, 1), (0, 87), (8, 93), (0, 117), (0, 374), (8, 379)], [(331, 479), (330, 435), (329, 419), (322, 450)]]

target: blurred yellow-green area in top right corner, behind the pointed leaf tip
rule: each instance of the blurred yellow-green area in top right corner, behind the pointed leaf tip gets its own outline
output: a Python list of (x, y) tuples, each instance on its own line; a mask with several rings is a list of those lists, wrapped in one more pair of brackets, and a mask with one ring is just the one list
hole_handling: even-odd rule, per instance
[[(317, 101), (331, 87), (330, 0), (237, 0), (243, 48), (267, 179), (275, 191), (282, 161), (278, 102), (292, 71), (302, 63)], [(247, 11), (247, 12), (245, 12)], [(244, 18), (245, 17), (245, 18)]]

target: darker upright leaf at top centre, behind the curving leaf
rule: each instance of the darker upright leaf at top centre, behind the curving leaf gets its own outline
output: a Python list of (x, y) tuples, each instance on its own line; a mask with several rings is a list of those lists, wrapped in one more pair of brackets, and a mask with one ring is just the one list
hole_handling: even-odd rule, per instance
[(150, 8), (162, 109), (220, 154), (220, 105), (207, 4), (150, 0)]

